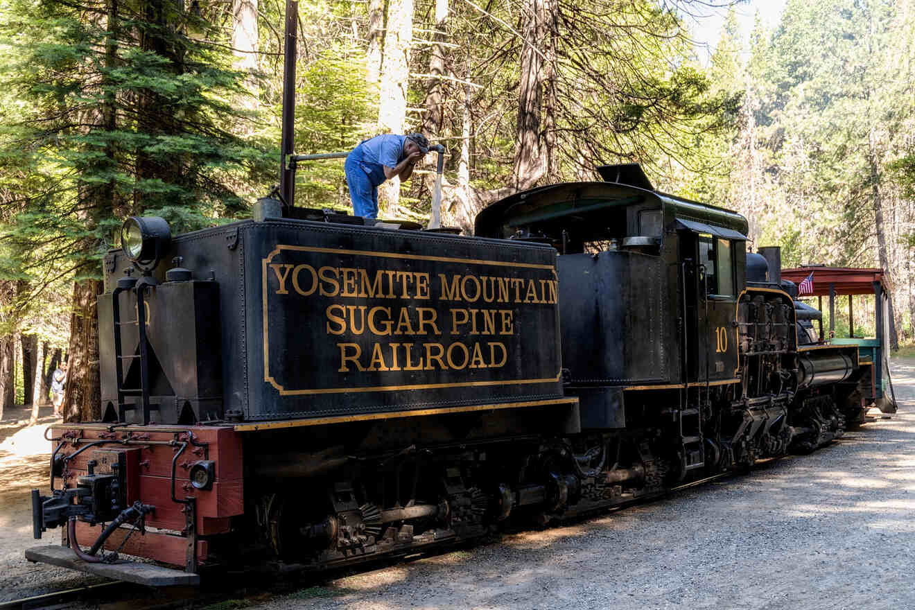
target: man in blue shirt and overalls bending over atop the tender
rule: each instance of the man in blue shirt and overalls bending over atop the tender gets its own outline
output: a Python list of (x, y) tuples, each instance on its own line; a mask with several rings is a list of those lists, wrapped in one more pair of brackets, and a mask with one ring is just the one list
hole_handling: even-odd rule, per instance
[(376, 135), (353, 148), (343, 166), (353, 213), (377, 218), (378, 185), (395, 176), (411, 177), (414, 165), (427, 152), (429, 141), (423, 134)]

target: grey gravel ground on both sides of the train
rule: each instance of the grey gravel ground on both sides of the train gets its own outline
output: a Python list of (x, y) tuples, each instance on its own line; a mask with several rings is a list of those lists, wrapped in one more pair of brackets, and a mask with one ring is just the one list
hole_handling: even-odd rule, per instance
[[(231, 607), (915, 608), (915, 359), (893, 373), (899, 414), (813, 455)], [(34, 543), (27, 491), (47, 462), (17, 458), (10, 473), (10, 459), (0, 453), (0, 601), (92, 582), (22, 559)]]

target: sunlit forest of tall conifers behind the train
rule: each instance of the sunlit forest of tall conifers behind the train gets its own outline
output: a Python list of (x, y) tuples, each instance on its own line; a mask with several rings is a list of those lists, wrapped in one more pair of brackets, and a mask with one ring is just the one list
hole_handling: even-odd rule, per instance
[[(638, 162), (737, 209), (785, 266), (881, 267), (911, 342), (910, 4), (788, 0), (747, 38), (726, 0), (301, 0), (296, 153), (424, 132), (447, 148), (444, 224), (468, 232), (514, 190)], [(690, 21), (709, 5), (731, 10), (704, 61)], [(276, 183), (284, 8), (0, 0), (0, 419), (45, 401), (62, 358), (66, 416), (100, 417), (94, 301), (124, 217), (199, 229)], [(382, 189), (384, 217), (427, 219), (429, 157)], [(342, 164), (300, 165), (296, 205), (349, 209)]]

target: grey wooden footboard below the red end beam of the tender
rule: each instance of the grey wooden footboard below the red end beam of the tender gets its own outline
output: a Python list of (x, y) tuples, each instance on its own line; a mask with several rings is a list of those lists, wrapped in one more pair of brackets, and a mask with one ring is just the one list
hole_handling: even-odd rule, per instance
[[(147, 534), (148, 535), (148, 534)], [(115, 562), (87, 563), (78, 558), (71, 549), (56, 545), (33, 547), (27, 549), (26, 559), (29, 562), (50, 563), (61, 568), (70, 568), (80, 572), (96, 574), (128, 583), (145, 584), (151, 587), (174, 585), (196, 586), (200, 577), (195, 573), (181, 572), (150, 563)]]

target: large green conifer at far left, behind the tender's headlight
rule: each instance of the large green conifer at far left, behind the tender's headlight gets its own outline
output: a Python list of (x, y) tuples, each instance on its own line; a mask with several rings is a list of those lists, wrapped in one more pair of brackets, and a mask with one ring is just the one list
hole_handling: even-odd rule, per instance
[(3, 240), (75, 280), (67, 416), (98, 418), (95, 298), (121, 220), (184, 231), (236, 216), (268, 157), (227, 129), (247, 119), (231, 105), (242, 74), (183, 3), (14, 0), (0, 36), (6, 82), (30, 109), (0, 121), (0, 169), (44, 178), (10, 203)]

